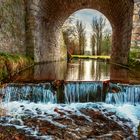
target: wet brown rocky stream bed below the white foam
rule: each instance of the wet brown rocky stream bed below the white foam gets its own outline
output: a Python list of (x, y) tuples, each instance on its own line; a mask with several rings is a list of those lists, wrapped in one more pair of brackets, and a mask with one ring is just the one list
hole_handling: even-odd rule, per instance
[[(31, 110), (25, 110), (30, 114)], [(36, 108), (37, 112), (40, 109)], [(56, 140), (122, 140), (133, 137), (133, 132), (125, 122), (120, 125), (121, 118), (117, 118), (114, 113), (109, 113), (109, 116), (113, 115), (118, 120), (115, 122), (113, 119), (107, 117), (102, 112), (93, 109), (81, 109), (81, 115), (76, 111), (67, 111), (55, 108), (54, 112), (60, 115), (45, 114), (44, 116), (27, 115), (23, 116), (23, 124), (28, 127), (27, 130), (36, 131), (36, 136), (32, 137), (30, 131), (19, 130), (16, 128), (10, 128), (10, 133), (5, 131), (9, 129), (9, 126), (0, 127), (0, 133), (4, 138), (10, 138), (11, 134), (14, 135), (15, 140), (36, 140), (38, 136), (52, 136)], [(65, 114), (66, 112), (66, 114)], [(89, 119), (90, 120), (89, 120)], [(12, 120), (10, 123), (20, 125), (18, 120)], [(7, 132), (8, 134), (4, 133)], [(21, 137), (19, 137), (20, 135)], [(29, 138), (30, 137), (30, 138)], [(2, 140), (5, 140), (2, 139)], [(0, 138), (1, 140), (1, 138)]]

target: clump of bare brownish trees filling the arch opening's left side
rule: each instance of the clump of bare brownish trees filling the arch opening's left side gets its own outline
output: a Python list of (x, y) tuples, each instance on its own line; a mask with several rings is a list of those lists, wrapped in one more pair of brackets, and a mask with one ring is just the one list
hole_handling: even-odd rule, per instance
[(86, 43), (85, 26), (83, 23), (75, 20), (73, 15), (65, 22), (62, 33), (68, 53), (83, 55)]

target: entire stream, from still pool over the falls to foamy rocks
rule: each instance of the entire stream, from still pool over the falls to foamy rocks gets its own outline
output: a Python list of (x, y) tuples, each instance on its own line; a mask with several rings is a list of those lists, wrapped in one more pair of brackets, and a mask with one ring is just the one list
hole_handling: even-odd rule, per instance
[[(66, 120), (74, 121), (77, 116), (82, 116), (83, 123), (88, 121), (90, 126), (94, 120), (91, 113), (87, 115), (89, 110), (101, 112), (124, 131), (130, 127), (134, 135), (132, 139), (138, 139), (140, 74), (111, 65), (108, 61), (80, 59), (69, 63), (62, 61), (35, 65), (12, 77), (12, 82), (1, 88), (1, 93), (1, 105), (6, 110), (0, 118), (1, 127), (14, 126), (22, 130), (28, 139), (72, 139), (68, 138), (67, 128), (71, 132), (70, 137), (74, 135), (74, 139), (78, 139), (80, 134), (72, 131), (72, 128), (79, 129), (81, 133), (83, 128), (80, 124), (65, 124)], [(75, 117), (72, 118), (72, 115)], [(48, 128), (44, 128), (41, 122)], [(99, 126), (103, 124), (100, 122)], [(63, 138), (62, 134), (58, 134), (60, 129), (66, 133)], [(80, 138), (84, 136), (87, 135), (81, 134)], [(106, 137), (109, 139), (109, 136)], [(85, 139), (88, 138), (97, 137), (90, 135)]]

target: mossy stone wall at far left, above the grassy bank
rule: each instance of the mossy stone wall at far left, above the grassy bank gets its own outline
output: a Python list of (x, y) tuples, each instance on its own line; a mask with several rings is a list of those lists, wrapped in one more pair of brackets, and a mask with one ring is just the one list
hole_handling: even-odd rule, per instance
[(24, 0), (0, 0), (0, 52), (26, 54)]

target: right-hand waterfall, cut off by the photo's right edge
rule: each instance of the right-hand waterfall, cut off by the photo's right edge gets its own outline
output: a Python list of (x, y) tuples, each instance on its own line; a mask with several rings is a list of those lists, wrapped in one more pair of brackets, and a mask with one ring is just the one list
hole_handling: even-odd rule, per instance
[(120, 91), (117, 93), (109, 92), (106, 96), (106, 103), (109, 104), (138, 104), (140, 103), (139, 85), (119, 85)]

